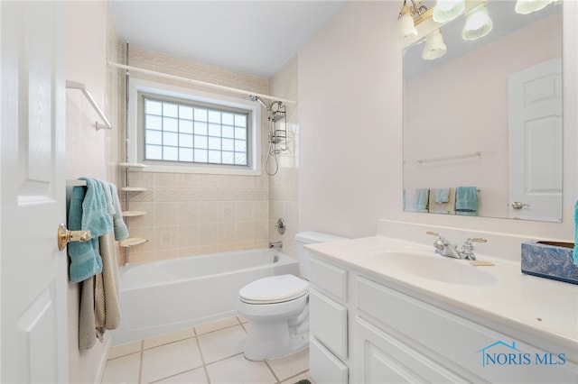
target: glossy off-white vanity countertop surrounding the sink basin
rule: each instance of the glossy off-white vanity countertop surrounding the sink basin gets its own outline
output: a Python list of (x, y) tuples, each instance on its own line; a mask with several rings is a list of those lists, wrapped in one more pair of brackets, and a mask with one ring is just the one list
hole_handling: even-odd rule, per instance
[[(310, 244), (308, 249), (380, 279), (409, 289), (418, 295), (432, 297), (474, 315), (481, 315), (503, 325), (538, 337), (545, 337), (572, 351), (578, 350), (578, 286), (523, 274), (519, 262), (478, 256), (493, 266), (475, 267), (470, 261), (447, 258), (434, 253), (433, 246), (405, 242), (384, 236), (372, 236), (339, 242)], [(399, 268), (394, 258), (408, 251), (441, 262), (462, 263), (463, 268), (479, 269), (489, 274), (485, 285), (455, 284), (418, 276), (417, 270)], [(417, 269), (419, 264), (413, 265)], [(422, 269), (424, 270), (424, 269)], [(452, 268), (449, 268), (452, 270)], [(458, 272), (459, 273), (459, 272)], [(476, 271), (477, 273), (477, 271)], [(485, 279), (484, 279), (485, 281)]]

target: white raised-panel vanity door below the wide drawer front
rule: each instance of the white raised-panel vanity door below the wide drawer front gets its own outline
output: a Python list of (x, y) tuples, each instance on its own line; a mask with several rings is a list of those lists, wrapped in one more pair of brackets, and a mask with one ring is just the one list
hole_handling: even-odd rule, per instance
[(464, 382), (430, 357), (361, 318), (355, 320), (356, 382), (364, 384)]

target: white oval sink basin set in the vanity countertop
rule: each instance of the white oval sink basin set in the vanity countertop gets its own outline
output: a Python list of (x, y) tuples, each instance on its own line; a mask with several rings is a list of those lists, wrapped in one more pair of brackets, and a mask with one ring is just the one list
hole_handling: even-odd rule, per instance
[(489, 286), (498, 283), (495, 276), (471, 265), (469, 261), (440, 256), (433, 251), (431, 253), (415, 250), (381, 251), (372, 254), (371, 257), (387, 262), (387, 266), (391, 266), (392, 269), (422, 279), (469, 286)]

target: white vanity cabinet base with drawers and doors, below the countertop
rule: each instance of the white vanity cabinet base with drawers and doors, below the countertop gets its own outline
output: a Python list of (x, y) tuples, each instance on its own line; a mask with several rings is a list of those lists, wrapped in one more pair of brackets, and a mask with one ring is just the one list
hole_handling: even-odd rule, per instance
[[(310, 302), (316, 382), (346, 382), (322, 376), (344, 370), (359, 384), (578, 382), (569, 360), (576, 351), (475, 313), (475, 303), (454, 307), (315, 253), (312, 263), (319, 267)], [(324, 361), (322, 352), (330, 353)]]

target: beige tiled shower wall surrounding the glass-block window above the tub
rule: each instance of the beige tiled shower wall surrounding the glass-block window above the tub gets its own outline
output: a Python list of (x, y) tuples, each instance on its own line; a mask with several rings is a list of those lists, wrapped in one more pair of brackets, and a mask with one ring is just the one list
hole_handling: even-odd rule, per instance
[[(125, 45), (122, 44), (120, 46), (122, 58), (126, 57), (125, 50)], [(293, 62), (296, 66), (296, 59)], [(269, 93), (266, 79), (254, 78), (138, 48), (130, 47), (129, 65), (183, 78), (194, 78), (226, 87), (236, 87), (261, 94)], [(292, 73), (288, 69), (285, 71)], [(284, 71), (282, 72), (284, 73)], [(123, 73), (120, 75), (123, 77), (121, 94), (124, 96), (124, 75)], [(245, 97), (216, 91), (212, 88), (155, 78), (135, 71), (131, 73), (131, 78), (144, 78), (178, 87), (200, 89), (204, 92), (239, 98)], [(287, 75), (282, 78), (283, 80), (280, 81), (283, 84), (290, 84), (285, 80), (288, 78)], [(296, 78), (292, 80), (291, 84), (296, 85)], [(296, 90), (294, 94), (296, 95)], [(121, 100), (124, 100), (124, 97), (121, 97)], [(292, 119), (296, 122), (296, 105), (291, 105), (288, 111), (291, 111), (292, 108), (295, 111)], [(119, 113), (125, 114), (124, 105)], [(124, 115), (122, 115), (121, 121), (125, 121)], [(266, 113), (263, 113), (263, 163), (265, 163), (267, 151), (266, 123)], [(288, 126), (291, 125), (288, 124)], [(118, 157), (120, 160), (124, 160), (124, 129), (118, 131), (118, 142), (122, 143), (117, 147)], [(280, 170), (278, 175), (281, 177), (284, 172)], [(289, 172), (286, 175), (289, 175)], [(118, 169), (117, 177), (117, 185), (124, 186), (126, 183), (123, 169)], [(270, 177), (265, 172), (261, 176), (230, 176), (132, 171), (129, 178), (131, 186), (148, 188), (145, 192), (131, 193), (129, 196), (131, 211), (143, 210), (147, 212), (147, 215), (144, 216), (127, 218), (130, 235), (149, 240), (149, 242), (130, 248), (129, 261), (131, 263), (158, 261), (215, 251), (266, 247), (273, 225), (273, 219), (269, 215), (270, 209), (275, 212), (275, 215), (284, 214), (286, 217), (290, 217), (291, 224), (296, 224), (296, 212), (290, 215), (288, 212), (284, 212), (285, 209), (278, 209), (276, 205), (279, 198), (284, 199), (284, 196), (287, 195), (281, 191), (283, 188), (280, 187), (285, 180), (283, 179), (282, 182), (279, 179), (280, 181), (275, 182), (275, 187), (271, 190), (273, 199), (270, 202)], [(296, 177), (291, 177), (291, 180), (293, 179), (296, 180)], [(272, 178), (271, 180), (273, 182), (275, 179)], [(296, 191), (294, 181), (289, 181), (289, 184)], [(296, 192), (293, 196), (296, 197)], [(124, 194), (121, 194), (121, 198), (124, 200)], [(278, 202), (281, 204), (284, 200), (278, 200)], [(296, 210), (296, 202), (293, 206)], [(294, 256), (294, 238), (288, 238), (288, 234), (291, 232), (294, 233), (294, 229), (285, 233), (284, 242), (287, 245), (291, 242), (292, 247), (284, 251)], [(122, 263), (124, 251), (120, 252), (119, 256)]]

